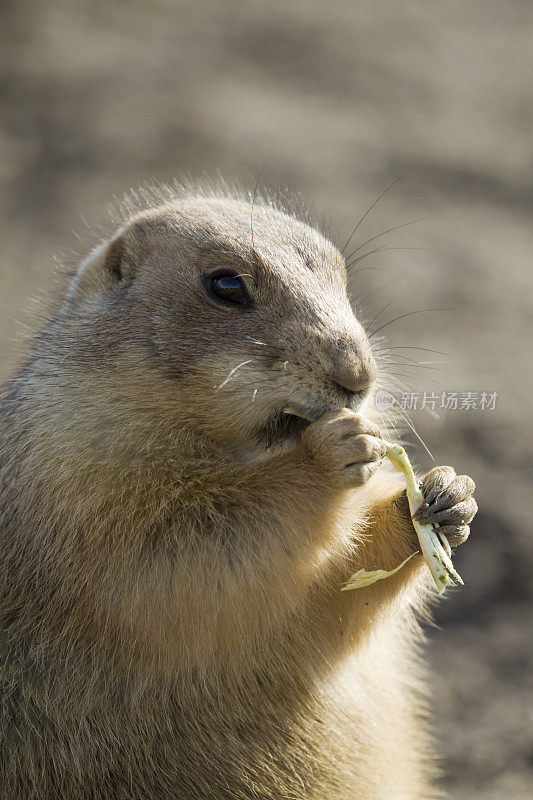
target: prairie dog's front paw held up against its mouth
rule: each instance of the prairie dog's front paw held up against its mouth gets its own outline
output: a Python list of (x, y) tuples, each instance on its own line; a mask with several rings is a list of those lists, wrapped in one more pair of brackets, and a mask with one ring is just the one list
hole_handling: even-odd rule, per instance
[(344, 486), (361, 486), (385, 456), (378, 428), (347, 408), (330, 411), (304, 431), (302, 442), (321, 470)]

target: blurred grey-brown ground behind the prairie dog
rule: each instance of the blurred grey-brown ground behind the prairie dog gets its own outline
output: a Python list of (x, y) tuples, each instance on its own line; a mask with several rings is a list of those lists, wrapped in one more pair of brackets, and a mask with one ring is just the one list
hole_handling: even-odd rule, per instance
[(531, 798), (531, 3), (4, 0), (1, 16), (2, 377), (54, 257), (84, 252), (130, 186), (220, 170), (253, 187), (261, 172), (343, 242), (404, 176), (352, 244), (429, 215), (366, 248), (416, 249), (366, 258), (355, 296), (367, 319), (394, 300), (380, 322), (450, 309), (383, 331), (445, 351), (397, 351), (443, 360), (396, 367), (413, 391), (498, 393), (494, 410), (412, 412), (480, 505), (457, 554), (466, 587), (428, 631), (443, 786)]

